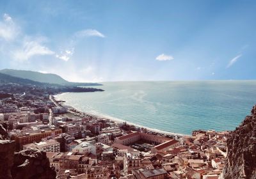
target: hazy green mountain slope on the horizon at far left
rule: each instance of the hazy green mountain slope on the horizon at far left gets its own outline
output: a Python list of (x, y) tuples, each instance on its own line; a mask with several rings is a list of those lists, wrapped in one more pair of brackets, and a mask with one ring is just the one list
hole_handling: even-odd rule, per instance
[(10, 75), (13, 77), (19, 77), (22, 79), (29, 79), (37, 82), (47, 82), (52, 84), (61, 84), (65, 86), (96, 86), (100, 85), (98, 83), (90, 82), (69, 82), (56, 74), (43, 74), (40, 72), (33, 72), (28, 70), (12, 70), (12, 69), (3, 69), (0, 70), (1, 74)]

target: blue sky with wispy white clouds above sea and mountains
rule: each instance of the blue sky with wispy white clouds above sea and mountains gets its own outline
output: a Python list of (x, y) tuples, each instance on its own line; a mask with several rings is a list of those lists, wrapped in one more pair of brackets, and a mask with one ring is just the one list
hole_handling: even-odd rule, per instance
[(68, 81), (256, 79), (256, 1), (3, 1), (0, 68)]

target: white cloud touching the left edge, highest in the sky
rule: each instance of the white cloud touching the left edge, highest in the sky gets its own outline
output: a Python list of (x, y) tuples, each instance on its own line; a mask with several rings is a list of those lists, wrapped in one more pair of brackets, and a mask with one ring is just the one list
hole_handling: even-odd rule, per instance
[(0, 39), (11, 41), (19, 34), (19, 27), (13, 22), (12, 17), (4, 13), (3, 20), (0, 21)]

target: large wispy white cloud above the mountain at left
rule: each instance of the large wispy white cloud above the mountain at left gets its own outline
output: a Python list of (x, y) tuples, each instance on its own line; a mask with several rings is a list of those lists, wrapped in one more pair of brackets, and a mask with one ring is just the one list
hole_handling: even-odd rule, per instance
[(41, 40), (24, 40), (22, 47), (13, 51), (13, 59), (26, 61), (33, 56), (53, 55), (54, 52), (45, 47)]

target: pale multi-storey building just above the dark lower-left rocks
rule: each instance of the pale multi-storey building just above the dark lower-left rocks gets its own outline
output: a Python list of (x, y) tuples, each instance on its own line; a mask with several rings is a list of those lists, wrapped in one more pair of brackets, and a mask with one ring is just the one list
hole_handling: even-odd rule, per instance
[(39, 143), (31, 143), (23, 146), (23, 149), (37, 148), (44, 152), (60, 152), (60, 143), (54, 140), (41, 141)]

